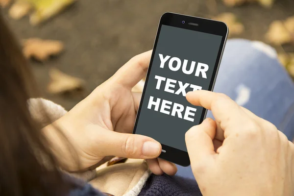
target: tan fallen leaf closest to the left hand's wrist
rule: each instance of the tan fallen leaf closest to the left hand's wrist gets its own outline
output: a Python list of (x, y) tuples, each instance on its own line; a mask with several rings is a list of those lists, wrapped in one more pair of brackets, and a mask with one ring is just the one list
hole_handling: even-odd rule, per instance
[(51, 82), (49, 83), (47, 90), (51, 94), (59, 94), (83, 89), (85, 84), (83, 79), (62, 73), (56, 68), (52, 68), (49, 71), (49, 76), (51, 78)]

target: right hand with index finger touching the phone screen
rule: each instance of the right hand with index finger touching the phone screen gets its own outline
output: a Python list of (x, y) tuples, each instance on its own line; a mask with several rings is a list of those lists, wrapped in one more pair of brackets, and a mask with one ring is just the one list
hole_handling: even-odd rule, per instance
[(186, 133), (203, 196), (294, 195), (294, 145), (282, 132), (223, 94), (196, 91), (186, 97), (216, 119)]

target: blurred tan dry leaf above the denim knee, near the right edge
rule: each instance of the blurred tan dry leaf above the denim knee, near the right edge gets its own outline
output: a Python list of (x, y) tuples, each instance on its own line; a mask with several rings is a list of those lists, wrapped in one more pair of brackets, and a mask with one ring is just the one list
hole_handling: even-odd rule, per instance
[(283, 21), (273, 21), (266, 33), (266, 39), (272, 44), (282, 45), (291, 42), (292, 36)]

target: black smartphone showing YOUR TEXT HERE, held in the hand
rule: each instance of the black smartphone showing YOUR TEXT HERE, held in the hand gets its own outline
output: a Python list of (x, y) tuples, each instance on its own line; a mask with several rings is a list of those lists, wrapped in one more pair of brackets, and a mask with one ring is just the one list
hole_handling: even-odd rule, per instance
[(190, 165), (185, 133), (207, 110), (189, 103), (186, 93), (213, 90), (227, 35), (223, 22), (162, 15), (133, 130), (161, 143), (160, 158)]

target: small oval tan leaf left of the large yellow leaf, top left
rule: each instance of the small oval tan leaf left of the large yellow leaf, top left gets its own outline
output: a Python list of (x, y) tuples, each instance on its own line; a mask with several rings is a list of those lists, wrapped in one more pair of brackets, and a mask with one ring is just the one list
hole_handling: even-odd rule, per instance
[(18, 0), (9, 9), (9, 16), (16, 20), (21, 19), (26, 14), (28, 14), (30, 9), (31, 9), (30, 3), (24, 0)]

